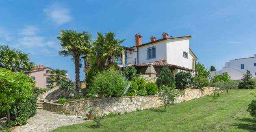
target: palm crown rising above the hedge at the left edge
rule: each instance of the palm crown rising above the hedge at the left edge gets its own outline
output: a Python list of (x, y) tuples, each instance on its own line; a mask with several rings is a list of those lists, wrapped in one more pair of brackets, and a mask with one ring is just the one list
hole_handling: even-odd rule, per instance
[(13, 72), (23, 71), (26, 75), (29, 75), (29, 71), (35, 68), (35, 63), (30, 62), (28, 54), (24, 54), (21, 50), (11, 50), (8, 45), (1, 45), (0, 67)]

